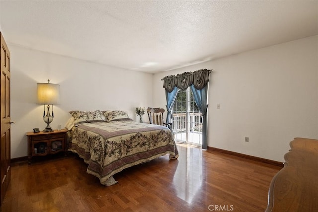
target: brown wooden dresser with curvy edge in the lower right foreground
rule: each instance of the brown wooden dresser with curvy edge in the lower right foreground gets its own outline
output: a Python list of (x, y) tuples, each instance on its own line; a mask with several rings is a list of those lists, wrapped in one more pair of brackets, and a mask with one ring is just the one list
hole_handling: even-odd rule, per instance
[(266, 212), (318, 212), (318, 140), (295, 138), (272, 179)]

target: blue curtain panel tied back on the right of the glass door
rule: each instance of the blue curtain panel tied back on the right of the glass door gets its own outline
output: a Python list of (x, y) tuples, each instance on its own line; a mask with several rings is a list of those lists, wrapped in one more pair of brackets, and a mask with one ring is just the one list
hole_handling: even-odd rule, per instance
[(193, 93), (193, 98), (195, 103), (197, 104), (200, 112), (202, 113), (202, 148), (208, 149), (208, 90), (209, 83), (206, 83), (205, 87), (201, 90), (195, 88), (195, 86), (191, 85), (191, 91)]

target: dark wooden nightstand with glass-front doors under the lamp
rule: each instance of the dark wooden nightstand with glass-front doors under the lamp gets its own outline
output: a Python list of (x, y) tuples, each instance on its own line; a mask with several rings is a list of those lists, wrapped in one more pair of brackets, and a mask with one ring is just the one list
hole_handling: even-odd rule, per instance
[(28, 162), (31, 164), (33, 156), (45, 156), (61, 151), (66, 155), (66, 132), (67, 130), (54, 130), (51, 132), (28, 132)]

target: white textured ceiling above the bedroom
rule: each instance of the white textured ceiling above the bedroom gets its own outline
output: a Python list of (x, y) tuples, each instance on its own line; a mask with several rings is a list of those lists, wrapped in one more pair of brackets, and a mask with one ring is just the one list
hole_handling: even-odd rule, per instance
[(318, 0), (0, 0), (0, 25), (8, 44), (155, 73), (317, 35)]

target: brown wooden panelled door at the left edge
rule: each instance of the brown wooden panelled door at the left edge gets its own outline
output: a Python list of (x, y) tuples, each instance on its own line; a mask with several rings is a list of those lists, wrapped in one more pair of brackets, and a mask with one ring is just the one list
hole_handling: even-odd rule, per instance
[(11, 169), (11, 116), (10, 116), (10, 51), (0, 32), (1, 46), (1, 145), (0, 145), (0, 175), (1, 175), (1, 205), (8, 188)]

